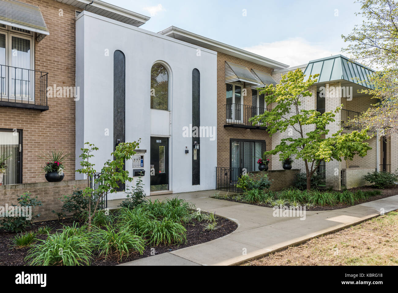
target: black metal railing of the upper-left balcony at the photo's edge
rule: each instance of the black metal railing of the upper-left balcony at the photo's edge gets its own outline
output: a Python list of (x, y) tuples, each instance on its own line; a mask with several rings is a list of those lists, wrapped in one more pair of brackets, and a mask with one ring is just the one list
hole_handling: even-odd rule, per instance
[(48, 110), (48, 73), (0, 64), (0, 106)]

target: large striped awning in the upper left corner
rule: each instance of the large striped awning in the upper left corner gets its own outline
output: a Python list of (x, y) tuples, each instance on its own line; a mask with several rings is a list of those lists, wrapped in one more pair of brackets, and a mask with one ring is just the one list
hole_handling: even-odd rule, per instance
[(0, 0), (0, 23), (49, 35), (39, 6), (16, 0)]

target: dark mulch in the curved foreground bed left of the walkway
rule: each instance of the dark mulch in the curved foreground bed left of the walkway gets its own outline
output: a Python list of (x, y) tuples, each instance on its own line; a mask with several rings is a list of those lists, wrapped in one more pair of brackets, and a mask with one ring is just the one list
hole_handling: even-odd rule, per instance
[[(199, 223), (198, 221), (191, 221), (190, 223), (185, 224), (185, 229), (187, 229), (187, 243), (178, 245), (159, 245), (155, 246), (154, 254), (162, 254), (164, 252), (170, 252), (173, 250), (177, 250), (180, 248), (193, 246), (196, 244), (201, 244), (204, 242), (208, 242), (210, 240), (214, 240), (230, 234), (238, 225), (230, 221), (228, 219), (224, 219), (221, 217), (216, 217), (217, 226), (219, 227), (213, 231), (204, 231), (203, 225), (205, 222)], [(73, 224), (71, 219), (63, 219), (60, 221), (44, 221), (44, 222), (36, 222), (35, 225), (28, 229), (27, 231), (37, 232), (37, 229), (41, 226), (50, 226), (53, 227), (50, 233), (55, 233), (57, 229), (62, 229), (63, 225), (70, 226)], [(24, 258), (27, 256), (27, 252), (30, 249), (27, 248), (16, 248), (13, 246), (13, 240), (16, 233), (6, 232), (0, 230), (0, 266), (24, 266), (27, 263), (24, 261)], [(47, 235), (36, 235), (36, 238), (44, 240)], [(118, 264), (122, 264), (125, 262), (131, 262), (132, 260), (138, 260), (139, 258), (146, 258), (151, 255), (151, 247), (147, 246), (144, 250), (144, 253), (140, 255), (138, 252), (133, 252), (129, 255), (129, 257), (124, 257), (122, 261), (117, 261), (117, 257), (111, 258), (102, 258), (98, 255), (94, 254), (93, 260), (91, 262), (92, 266), (115, 266)], [(153, 252), (152, 252), (153, 254)]]

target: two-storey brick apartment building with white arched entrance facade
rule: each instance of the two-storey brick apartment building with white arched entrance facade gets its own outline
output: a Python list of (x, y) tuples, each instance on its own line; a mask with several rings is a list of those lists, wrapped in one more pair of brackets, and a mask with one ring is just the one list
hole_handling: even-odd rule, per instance
[[(100, 147), (94, 159), (100, 168), (117, 143), (141, 138), (142, 152), (126, 169), (154, 173), (144, 176), (148, 194), (213, 189), (218, 168), (257, 170), (261, 154), (285, 135), (270, 137), (266, 127), (249, 122), (272, 107), (257, 88), (277, 84), (297, 67), (174, 26), (141, 29), (148, 20), (102, 1), (0, 0), (0, 151), (13, 154), (5, 185), (44, 182), (45, 162), (37, 155), (54, 149), (76, 158), (67, 162), (65, 180), (84, 179), (74, 170), (86, 141)], [(369, 68), (347, 64), (334, 56), (298, 66), (322, 78), (304, 107), (327, 111), (344, 104), (330, 135), (371, 104), (356, 94), (366, 85), (352, 80), (365, 78)], [(353, 100), (341, 94), (322, 100), (318, 93), (326, 85), (353, 87)], [(215, 127), (217, 139), (184, 136), (190, 126)], [(394, 138), (374, 138), (366, 158), (322, 164), (320, 172), (336, 189), (362, 184), (350, 181), (352, 168), (359, 167), (356, 174), (395, 170), (396, 145)], [(302, 169), (300, 162), (294, 168)], [(270, 158), (269, 170), (280, 169), (279, 158)]]

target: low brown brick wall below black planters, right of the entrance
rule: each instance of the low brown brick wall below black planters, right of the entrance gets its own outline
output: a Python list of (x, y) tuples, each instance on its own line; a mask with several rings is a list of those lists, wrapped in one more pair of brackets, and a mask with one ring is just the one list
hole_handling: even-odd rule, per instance
[(290, 186), (293, 186), (293, 182), (295, 181), (297, 174), (300, 173), (300, 169), (250, 172), (254, 178), (258, 176), (264, 176), (264, 173), (268, 174), (268, 179), (272, 182), (269, 189), (272, 191), (279, 191), (283, 188), (289, 188)]

